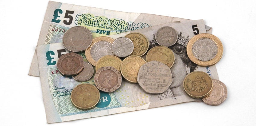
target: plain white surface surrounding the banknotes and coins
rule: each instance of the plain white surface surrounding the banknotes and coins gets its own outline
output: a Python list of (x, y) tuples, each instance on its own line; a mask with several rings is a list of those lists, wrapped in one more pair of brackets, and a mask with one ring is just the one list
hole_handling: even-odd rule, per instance
[[(224, 47), (216, 67), (228, 96), (219, 106), (190, 102), (51, 125), (255, 125), (255, 1), (56, 1), (204, 19)], [(0, 1), (0, 125), (50, 125), (40, 78), (28, 75), (47, 5), (47, 0)]]

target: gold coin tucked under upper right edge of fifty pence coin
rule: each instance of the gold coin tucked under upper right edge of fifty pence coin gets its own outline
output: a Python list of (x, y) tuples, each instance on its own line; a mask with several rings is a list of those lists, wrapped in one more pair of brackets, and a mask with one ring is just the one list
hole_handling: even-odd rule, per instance
[(169, 68), (173, 66), (174, 63), (174, 54), (171, 49), (165, 46), (155, 46), (151, 48), (146, 56), (146, 61), (159, 61), (163, 64), (166, 64)]

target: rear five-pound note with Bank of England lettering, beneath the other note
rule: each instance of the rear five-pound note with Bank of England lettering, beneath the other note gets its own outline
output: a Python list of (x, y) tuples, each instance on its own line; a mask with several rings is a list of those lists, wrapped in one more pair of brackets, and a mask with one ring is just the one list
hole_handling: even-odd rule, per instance
[[(167, 22), (184, 21), (188, 21), (188, 19), (147, 13), (126, 13), (49, 1), (37, 45), (62, 42), (64, 33), (74, 26), (86, 27), (92, 32), (92, 37), (96, 38)], [(206, 27), (207, 31), (211, 31), (211, 27)], [(32, 59), (29, 75), (40, 76), (36, 51)]]

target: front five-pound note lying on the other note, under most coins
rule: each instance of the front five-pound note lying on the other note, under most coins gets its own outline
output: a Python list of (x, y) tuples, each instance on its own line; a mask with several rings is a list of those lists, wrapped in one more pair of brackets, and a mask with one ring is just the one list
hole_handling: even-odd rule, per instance
[[(191, 29), (191, 25), (197, 25), (195, 31)], [(189, 36), (190, 39), (194, 36), (194, 32), (205, 33), (203, 20), (190, 21), (187, 23), (170, 22), (161, 26), (171, 26), (182, 32), (182, 35)], [(161, 26), (152, 26), (146, 29), (137, 30), (144, 34), (148, 40), (152, 39), (152, 33)], [(151, 32), (148, 32), (151, 31)], [(121, 35), (121, 34), (118, 34)], [(122, 34), (124, 35), (124, 34)], [(117, 37), (117, 36), (112, 36)], [(73, 106), (70, 94), (72, 89), (80, 83), (89, 83), (95, 85), (94, 79), (87, 82), (77, 82), (70, 76), (63, 76), (57, 69), (58, 58), (67, 53), (68, 50), (64, 48), (62, 43), (42, 44), (36, 47), (40, 79), (42, 84), (43, 100), (45, 105), (46, 119), (48, 123), (64, 122), (76, 119), (85, 119), (98, 116), (105, 116), (135, 110), (143, 110), (183, 102), (201, 101), (190, 98), (184, 92), (183, 83), (184, 76), (186, 76), (186, 65), (177, 56), (173, 68), (173, 83), (162, 94), (148, 94), (140, 88), (139, 84), (131, 84), (122, 80), (120, 88), (112, 93), (105, 93), (100, 91), (100, 101), (92, 110), (79, 110)], [(85, 59), (85, 55), (80, 53)], [(218, 79), (215, 66), (211, 67), (197, 67), (196, 70), (208, 72), (208, 74)], [(181, 88), (182, 87), (182, 88)], [(88, 96), (89, 98), (92, 98)]]

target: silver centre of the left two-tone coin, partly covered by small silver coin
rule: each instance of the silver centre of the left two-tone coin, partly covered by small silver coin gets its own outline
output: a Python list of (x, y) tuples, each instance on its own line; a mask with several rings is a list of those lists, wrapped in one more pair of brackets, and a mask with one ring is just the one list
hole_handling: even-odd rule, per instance
[(108, 41), (98, 41), (91, 47), (90, 53), (92, 59), (96, 62), (105, 55), (114, 55), (111, 49), (112, 44)]

